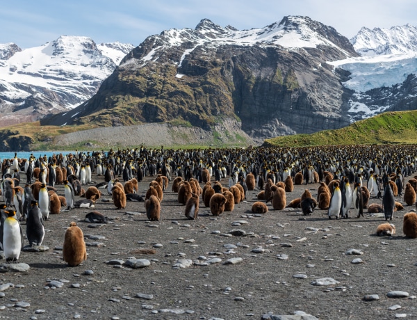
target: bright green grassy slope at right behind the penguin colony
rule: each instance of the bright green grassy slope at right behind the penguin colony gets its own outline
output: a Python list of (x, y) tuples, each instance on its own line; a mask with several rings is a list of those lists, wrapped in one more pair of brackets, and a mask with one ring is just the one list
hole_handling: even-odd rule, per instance
[(386, 143), (417, 144), (417, 111), (382, 113), (342, 129), (279, 136), (265, 140), (264, 144), (302, 147)]

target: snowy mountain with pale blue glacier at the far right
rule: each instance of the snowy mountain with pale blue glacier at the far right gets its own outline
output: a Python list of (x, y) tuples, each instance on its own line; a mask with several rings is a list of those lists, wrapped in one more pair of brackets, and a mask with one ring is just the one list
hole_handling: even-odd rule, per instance
[(347, 111), (350, 121), (416, 109), (417, 28), (410, 24), (362, 28), (350, 41), (361, 57), (329, 62), (350, 72), (350, 79), (343, 82), (353, 90)]

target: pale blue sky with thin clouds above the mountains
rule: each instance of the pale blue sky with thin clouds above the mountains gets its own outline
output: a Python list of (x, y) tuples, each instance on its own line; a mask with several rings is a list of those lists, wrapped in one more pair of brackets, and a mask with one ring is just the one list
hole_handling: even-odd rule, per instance
[(201, 19), (251, 29), (305, 15), (352, 38), (370, 29), (417, 26), (416, 0), (17, 0), (2, 1), (0, 43), (38, 47), (60, 35), (84, 35), (97, 43), (139, 45), (167, 29), (195, 28)]

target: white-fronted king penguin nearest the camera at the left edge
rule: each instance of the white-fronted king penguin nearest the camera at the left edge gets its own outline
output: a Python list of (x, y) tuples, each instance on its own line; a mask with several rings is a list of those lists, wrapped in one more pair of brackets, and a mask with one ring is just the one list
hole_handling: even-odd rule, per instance
[(19, 221), (16, 218), (16, 211), (4, 211), (7, 218), (3, 226), (3, 252), (6, 262), (17, 262), (20, 250), (23, 248), (23, 234)]

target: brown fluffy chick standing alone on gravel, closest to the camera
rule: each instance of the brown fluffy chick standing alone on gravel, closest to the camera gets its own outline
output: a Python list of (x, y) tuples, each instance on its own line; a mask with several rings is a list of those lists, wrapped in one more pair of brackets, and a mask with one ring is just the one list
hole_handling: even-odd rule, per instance
[(76, 223), (72, 222), (67, 231), (65, 231), (63, 260), (69, 266), (79, 266), (86, 259), (87, 251), (85, 250), (83, 230), (77, 227)]

